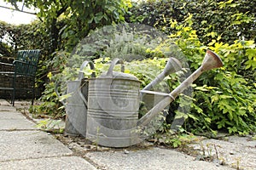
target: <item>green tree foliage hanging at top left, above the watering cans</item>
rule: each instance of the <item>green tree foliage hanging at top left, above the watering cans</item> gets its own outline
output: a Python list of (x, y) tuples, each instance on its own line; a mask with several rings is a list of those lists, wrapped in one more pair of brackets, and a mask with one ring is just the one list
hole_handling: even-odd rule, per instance
[[(16, 6), (22, 0), (6, 1)], [(125, 20), (125, 13), (131, 8), (130, 0), (27, 0), (24, 3), (39, 10), (38, 18), (44, 25), (42, 34), (49, 37), (49, 54), (63, 48), (71, 52), (90, 30)]]

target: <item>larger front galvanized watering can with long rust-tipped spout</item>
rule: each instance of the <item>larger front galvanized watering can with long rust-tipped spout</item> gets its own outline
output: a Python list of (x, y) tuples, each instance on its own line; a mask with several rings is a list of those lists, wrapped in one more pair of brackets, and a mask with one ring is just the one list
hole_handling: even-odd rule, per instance
[[(108, 147), (127, 147), (141, 142), (139, 129), (151, 122), (160, 111), (177, 98), (185, 88), (195, 81), (202, 72), (223, 65), (217, 54), (207, 50), (202, 65), (170, 94), (150, 91), (154, 85), (168, 74), (181, 69), (177, 59), (170, 58), (165, 70), (140, 90), (137, 77), (123, 72), (113, 71), (121, 59), (113, 59), (108, 72), (97, 78), (89, 79), (88, 111), (86, 137), (96, 144)], [(172, 65), (170, 65), (172, 64)], [(163, 99), (138, 120), (139, 104), (142, 93), (159, 94)]]

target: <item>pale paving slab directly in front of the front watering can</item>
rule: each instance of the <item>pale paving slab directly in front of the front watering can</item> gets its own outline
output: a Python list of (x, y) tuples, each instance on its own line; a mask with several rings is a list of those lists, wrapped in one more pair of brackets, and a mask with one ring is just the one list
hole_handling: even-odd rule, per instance
[(89, 152), (85, 156), (106, 170), (231, 169), (213, 162), (195, 161), (193, 156), (157, 147), (150, 150), (131, 150), (129, 153), (123, 150)]

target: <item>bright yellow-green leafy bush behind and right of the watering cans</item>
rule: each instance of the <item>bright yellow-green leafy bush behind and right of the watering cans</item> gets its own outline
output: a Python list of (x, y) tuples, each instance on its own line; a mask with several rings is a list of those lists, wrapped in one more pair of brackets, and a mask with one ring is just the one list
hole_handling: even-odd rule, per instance
[[(190, 69), (195, 71), (195, 69), (201, 65), (207, 47), (200, 42), (196, 31), (191, 27), (193, 25), (192, 18), (193, 16), (189, 15), (183, 25), (173, 20), (172, 27), (177, 31), (164, 43), (170, 44), (169, 42), (175, 42), (184, 56), (187, 57)], [(171, 106), (172, 109), (169, 114), (172, 115), (176, 113), (177, 115), (179, 114), (179, 116), (183, 116), (186, 119), (183, 128), (195, 133), (210, 132), (216, 134), (219, 130), (240, 134), (255, 132), (256, 85), (255, 74), (250, 74), (255, 70), (254, 42), (235, 41), (232, 44), (228, 44), (221, 42), (220, 39), (217, 38), (212, 39), (212, 42), (209, 42), (208, 46), (221, 56), (224, 60), (224, 67), (218, 70), (207, 71), (201, 75), (201, 77), (196, 80), (196, 85), (193, 85), (193, 95), (191, 97), (188, 96), (188, 99), (190, 98), (193, 102), (187, 102), (186, 99), (178, 98), (172, 103), (175, 107)], [(163, 48), (160, 47), (161, 44), (150, 50), (140, 47), (140, 49), (144, 50), (142, 50), (141, 54), (146, 54), (145, 56), (155, 56), (155, 53), (161, 54)], [(126, 53), (124, 51), (125, 46), (119, 49), (121, 49), (122, 53)], [(101, 50), (102, 53), (102, 48), (99, 50)], [(110, 51), (103, 51), (103, 54), (116, 53)], [(81, 56), (76, 54), (73, 55), (72, 59), (77, 60), (80, 57)], [(63, 58), (61, 59), (63, 60)], [(63, 63), (66, 63), (67, 59), (64, 60), (65, 62)], [(94, 59), (96, 75), (101, 74), (102, 71), (108, 70), (109, 60), (110, 58), (106, 57)], [(57, 61), (62, 63), (58, 58), (52, 62), (58, 65)], [(139, 78), (142, 81), (143, 88), (155, 75), (159, 74), (165, 63), (166, 58), (149, 58), (140, 61), (133, 60), (129, 63), (125, 63), (125, 72), (131, 73)], [(77, 73), (71, 74), (71, 72), (78, 71), (79, 65), (80, 64), (77, 63), (77, 65), (73, 65), (73, 67), (63, 67), (64, 70), (58, 75), (68, 77), (69, 80), (72, 80), (72, 77), (77, 77)], [(120, 70), (118, 65), (115, 69), (117, 69), (117, 71)], [(84, 75), (90, 76), (90, 74), (90, 68), (86, 68)], [(51, 79), (58, 80), (58, 77), (55, 76), (57, 75), (51, 76)], [(168, 88), (172, 90), (177, 87), (177, 83), (179, 83), (180, 80), (170, 75), (166, 77), (166, 81), (170, 82), (168, 83)], [(55, 97), (53, 99), (55, 99)], [(177, 105), (189, 105), (190, 110), (186, 110), (185, 112), (176, 111)], [(176, 147), (179, 145), (179, 139), (167, 139), (170, 139), (170, 141), (166, 142), (172, 143), (173, 146)]]

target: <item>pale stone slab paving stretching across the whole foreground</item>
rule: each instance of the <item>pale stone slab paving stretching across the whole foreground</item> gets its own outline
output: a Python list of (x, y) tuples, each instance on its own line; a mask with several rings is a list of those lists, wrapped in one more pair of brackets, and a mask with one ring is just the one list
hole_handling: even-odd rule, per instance
[[(246, 141), (236, 143), (233, 139), (230, 144), (236, 148), (236, 144), (243, 144)], [(206, 142), (206, 143), (204, 143)], [(203, 141), (207, 142), (219, 141)], [(221, 141), (223, 142), (223, 141)], [(228, 146), (224, 145), (224, 148)], [(250, 163), (242, 164), (243, 169), (256, 169), (255, 164), (256, 141), (247, 144), (249, 147), (243, 160), (250, 159)], [(192, 147), (198, 147), (193, 145)], [(240, 151), (227, 152), (219, 150), (227, 155), (240, 156)], [(253, 148), (254, 147), (254, 148)], [(91, 151), (80, 147), (80, 153), (69, 149), (61, 141), (55, 139), (50, 133), (41, 131), (36, 124), (26, 119), (20, 111), (16, 111), (7, 101), (0, 99), (0, 170), (7, 169), (85, 169), (85, 170), (166, 170), (166, 169), (232, 169), (232, 165), (221, 166), (216, 162), (198, 161), (193, 156), (188, 156), (177, 150), (151, 147), (147, 150), (106, 150)], [(84, 151), (83, 151), (84, 150)], [(128, 150), (128, 151), (127, 151)], [(81, 154), (82, 153), (82, 154)], [(222, 156), (222, 155), (221, 155)], [(228, 160), (227, 160), (228, 161)]]

